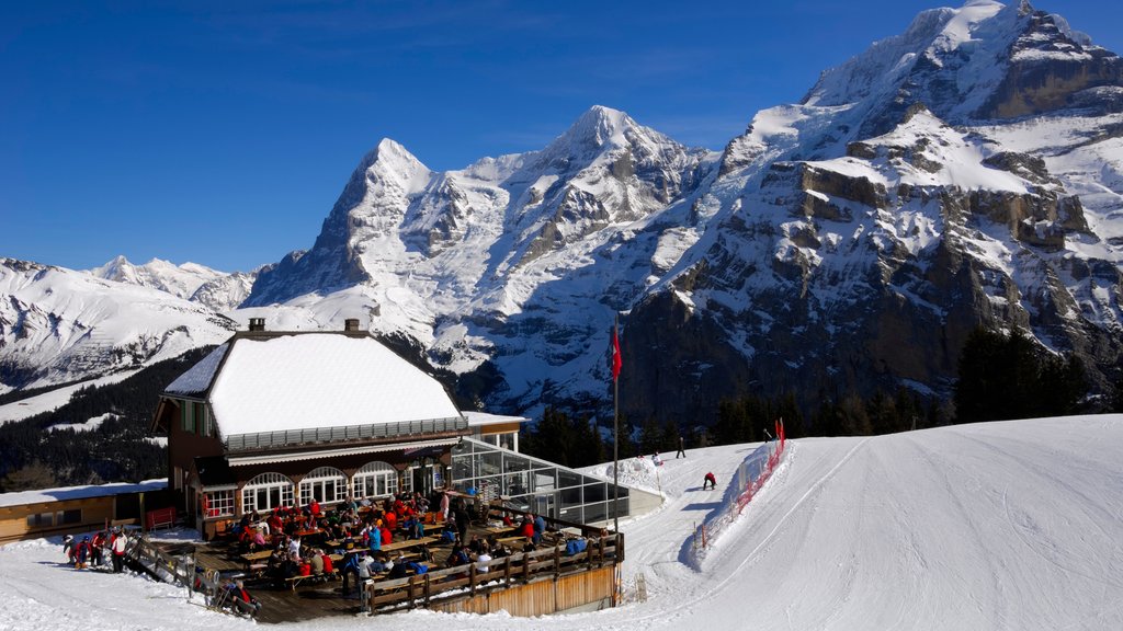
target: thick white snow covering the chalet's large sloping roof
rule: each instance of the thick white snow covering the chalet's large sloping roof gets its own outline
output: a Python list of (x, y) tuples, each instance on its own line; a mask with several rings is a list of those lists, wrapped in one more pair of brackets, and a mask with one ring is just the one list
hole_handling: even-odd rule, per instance
[(225, 437), (460, 415), (437, 379), (369, 336), (338, 332), (234, 338), (209, 400)]

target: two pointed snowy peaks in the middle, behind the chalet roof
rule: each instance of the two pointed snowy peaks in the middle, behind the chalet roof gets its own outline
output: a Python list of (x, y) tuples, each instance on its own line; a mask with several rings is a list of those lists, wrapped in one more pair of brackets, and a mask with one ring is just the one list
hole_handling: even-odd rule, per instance
[[(508, 400), (537, 401), (546, 379), (587, 378), (590, 364), (573, 362), (584, 359), (590, 336), (603, 336), (609, 314), (599, 287), (623, 308), (621, 291), (634, 294), (685, 250), (673, 244), (694, 231), (681, 220), (642, 247), (629, 226), (650, 231), (714, 158), (603, 107), (541, 152), (449, 173), (432, 173), (383, 140), (313, 248), (263, 272), (246, 307), (355, 303), (341, 294), (362, 294), (372, 329), (405, 331), (462, 372), (491, 358), (510, 377)], [(596, 265), (609, 256), (596, 253), (608, 250), (613, 264)]]

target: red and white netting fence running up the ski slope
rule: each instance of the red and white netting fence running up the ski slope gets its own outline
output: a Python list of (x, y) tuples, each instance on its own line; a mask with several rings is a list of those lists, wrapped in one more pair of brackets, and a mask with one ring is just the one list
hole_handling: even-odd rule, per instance
[(694, 530), (693, 564), (694, 567), (702, 566), (702, 558), (705, 549), (713, 543), (745, 506), (752, 501), (752, 497), (764, 487), (768, 478), (772, 477), (776, 467), (784, 458), (784, 422), (776, 421), (776, 439), (765, 442), (749, 454), (737, 467), (733, 474), (733, 482), (725, 490), (722, 497), (722, 505), (710, 513), (709, 516)]

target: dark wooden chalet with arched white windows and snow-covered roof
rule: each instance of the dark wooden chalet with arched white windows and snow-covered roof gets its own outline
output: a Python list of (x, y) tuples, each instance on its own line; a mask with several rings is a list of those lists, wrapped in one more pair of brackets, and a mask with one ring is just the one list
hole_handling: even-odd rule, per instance
[[(439, 382), (347, 320), (343, 331), (266, 331), (250, 319), (161, 395), (168, 491), (206, 537), (243, 514), (313, 497), (450, 487), (450, 450), (515, 441), (518, 418), (469, 427)], [(500, 438), (502, 435), (502, 439)]]

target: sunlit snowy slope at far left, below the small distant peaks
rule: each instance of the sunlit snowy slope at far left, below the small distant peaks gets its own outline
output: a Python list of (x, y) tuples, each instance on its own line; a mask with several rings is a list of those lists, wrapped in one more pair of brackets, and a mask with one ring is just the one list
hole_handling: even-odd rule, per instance
[(235, 323), (166, 292), (0, 259), (0, 383), (35, 387), (217, 344)]

